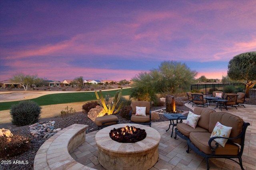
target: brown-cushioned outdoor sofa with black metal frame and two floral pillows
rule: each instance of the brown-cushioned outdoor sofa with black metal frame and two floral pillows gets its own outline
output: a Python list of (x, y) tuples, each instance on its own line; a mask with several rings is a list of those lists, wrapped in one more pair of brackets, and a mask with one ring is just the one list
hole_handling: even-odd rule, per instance
[[(189, 115), (192, 114), (189, 113)], [(190, 123), (188, 123), (188, 115), (187, 120), (183, 121), (183, 123), (178, 123), (177, 121), (175, 129), (176, 135), (185, 139), (188, 143), (188, 150), (186, 152), (192, 149), (200, 156), (203, 156), (206, 159), (207, 169), (209, 169), (209, 158), (227, 158), (240, 164), (241, 169), (244, 170), (242, 166), (242, 153), (244, 150), (246, 128), (250, 123), (244, 122), (243, 119), (236, 115), (216, 112), (206, 107), (196, 107), (194, 114), (193, 116), (197, 118), (200, 115), (197, 124), (194, 121), (190, 121), (190, 123), (194, 123), (195, 128), (191, 127)], [(223, 130), (227, 129), (230, 132), (229, 136), (223, 135), (225, 134)], [(176, 139), (176, 135), (174, 139)], [(226, 143), (225, 141), (216, 142), (217, 140), (225, 139), (227, 139)], [(239, 162), (233, 158), (238, 158)]]

